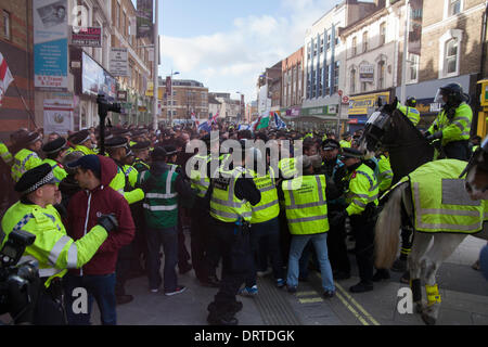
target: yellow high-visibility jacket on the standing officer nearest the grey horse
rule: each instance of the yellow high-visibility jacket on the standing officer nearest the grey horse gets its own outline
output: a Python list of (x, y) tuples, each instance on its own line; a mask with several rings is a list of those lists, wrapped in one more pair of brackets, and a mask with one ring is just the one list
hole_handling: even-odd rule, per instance
[(360, 215), (370, 203), (377, 206), (378, 185), (373, 170), (368, 165), (361, 164), (349, 172), (345, 180), (348, 181), (345, 197), (349, 216)]

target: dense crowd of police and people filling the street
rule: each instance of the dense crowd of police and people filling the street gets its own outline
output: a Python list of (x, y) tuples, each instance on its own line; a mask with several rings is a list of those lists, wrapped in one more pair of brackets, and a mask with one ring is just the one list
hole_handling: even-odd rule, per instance
[[(414, 123), (409, 103), (394, 106)], [(425, 136), (441, 139), (439, 126)], [(218, 141), (188, 125), (110, 127), (103, 145), (100, 128), (67, 137), (20, 129), (0, 144), (2, 230), (37, 236), (25, 257), (38, 260), (43, 286), (28, 320), (89, 324), (95, 300), (102, 323), (116, 324), (116, 306), (133, 299), (129, 279), (145, 275), (150, 293), (172, 296), (185, 291), (179, 278), (193, 270), (201, 285), (218, 288), (208, 323), (237, 324), (236, 296), (259, 295), (258, 275), (272, 273), (278, 287), (296, 293), (317, 269), (323, 296), (333, 297), (334, 281), (351, 277), (348, 233), (360, 279), (349, 291), (373, 291), (389, 278), (388, 269), (375, 272), (373, 246), (378, 197), (393, 171), (387, 152), (365, 159), (358, 150), (362, 130), (338, 138), (332, 130), (213, 128)], [(229, 139), (240, 149), (221, 153)], [(206, 150), (188, 151), (192, 140)], [(246, 145), (256, 140), (280, 150), (278, 168), (272, 151)], [(303, 153), (294, 153), (297, 141)], [(408, 248), (402, 244), (399, 271)], [(88, 312), (74, 311), (78, 287), (88, 291)]]

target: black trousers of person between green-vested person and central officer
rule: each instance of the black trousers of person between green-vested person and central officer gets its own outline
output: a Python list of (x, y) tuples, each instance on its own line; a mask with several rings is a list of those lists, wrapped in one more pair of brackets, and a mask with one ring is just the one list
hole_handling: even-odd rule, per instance
[(209, 227), (208, 210), (195, 207), (192, 209), (190, 252), (195, 275), (205, 282), (209, 275), (216, 275), (219, 261), (218, 249), (215, 247), (215, 236)]

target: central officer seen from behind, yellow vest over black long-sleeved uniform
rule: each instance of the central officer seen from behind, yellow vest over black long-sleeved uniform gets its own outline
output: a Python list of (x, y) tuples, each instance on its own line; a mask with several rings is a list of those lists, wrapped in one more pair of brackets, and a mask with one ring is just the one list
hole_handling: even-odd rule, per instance
[[(251, 261), (249, 221), (252, 206), (261, 200), (252, 175), (247, 175), (245, 163), (245, 143), (241, 140), (241, 156), (234, 150), (233, 167), (230, 170), (219, 168), (219, 178), (213, 179), (210, 195), (211, 228), (222, 255), (222, 279), (214, 301), (208, 305), (207, 321), (215, 325), (235, 325), (234, 314), (242, 304), (235, 300), (239, 288), (244, 283)], [(241, 160), (239, 160), (241, 157)]]

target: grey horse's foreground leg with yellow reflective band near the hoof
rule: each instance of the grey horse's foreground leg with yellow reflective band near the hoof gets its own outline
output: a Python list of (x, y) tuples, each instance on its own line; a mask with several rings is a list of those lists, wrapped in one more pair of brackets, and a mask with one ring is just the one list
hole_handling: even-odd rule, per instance
[(421, 268), (425, 280), (427, 292), (427, 306), (422, 312), (425, 324), (432, 325), (437, 321), (440, 309), (440, 294), (437, 286), (436, 273), (444, 260), (446, 260), (454, 249), (466, 237), (463, 234), (437, 233), (434, 236), (434, 244), (422, 258)]

